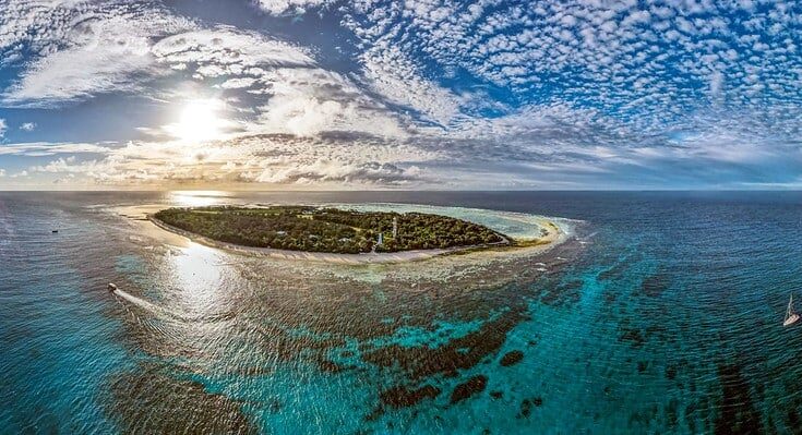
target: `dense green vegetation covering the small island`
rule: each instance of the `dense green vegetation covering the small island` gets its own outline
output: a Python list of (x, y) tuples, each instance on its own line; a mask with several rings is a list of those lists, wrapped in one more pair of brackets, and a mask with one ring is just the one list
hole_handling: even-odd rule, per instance
[[(490, 228), (422, 213), (356, 212), (306, 206), (169, 208), (154, 217), (222, 242), (282, 250), (360, 253), (446, 249), (507, 239)], [(397, 235), (393, 237), (393, 221)], [(379, 244), (379, 234), (382, 243)]]

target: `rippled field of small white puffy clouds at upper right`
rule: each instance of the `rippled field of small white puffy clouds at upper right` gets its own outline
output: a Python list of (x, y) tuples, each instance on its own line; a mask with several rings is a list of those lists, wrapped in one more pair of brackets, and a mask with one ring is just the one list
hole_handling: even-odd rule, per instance
[[(406, 98), (402, 104), (441, 124), (476, 110), (455, 100), (453, 90), (417, 89), (442, 89), (432, 77), (457, 71), (463, 82), (513, 93), (519, 107), (560, 101), (654, 133), (667, 122), (695, 122), (695, 113), (711, 105), (759, 112), (797, 98), (802, 39), (771, 28), (799, 27), (798, 7), (768, 7), (742, 23), (734, 3), (369, 4), (344, 8), (346, 26), (364, 47), (366, 77), (388, 99)], [(758, 40), (750, 37), (755, 34)], [(701, 96), (703, 86), (710, 92)], [(788, 118), (802, 114), (799, 105), (791, 109)]]

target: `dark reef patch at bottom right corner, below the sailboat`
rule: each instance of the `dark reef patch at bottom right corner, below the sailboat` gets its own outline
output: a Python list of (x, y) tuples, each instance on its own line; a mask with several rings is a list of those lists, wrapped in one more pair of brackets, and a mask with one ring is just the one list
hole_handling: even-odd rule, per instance
[(721, 404), (718, 407), (716, 434), (758, 434), (763, 432), (761, 412), (755, 408), (750, 385), (735, 364), (719, 364)]

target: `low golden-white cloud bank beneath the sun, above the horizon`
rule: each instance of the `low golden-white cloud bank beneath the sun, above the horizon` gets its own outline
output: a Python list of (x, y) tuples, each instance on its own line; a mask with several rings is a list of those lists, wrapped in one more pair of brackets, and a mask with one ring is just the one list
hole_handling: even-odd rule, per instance
[[(51, 146), (59, 150), (58, 156), (27, 168), (31, 173), (74, 174), (75, 181), (109, 185), (420, 185), (433, 181), (420, 166), (441, 158), (411, 144), (355, 133), (263, 134), (215, 141), (202, 148), (180, 142), (131, 142), (103, 148), (103, 153), (89, 153), (80, 144)], [(14, 148), (16, 153), (41, 153), (33, 145)], [(73, 153), (82, 149), (87, 153)]]

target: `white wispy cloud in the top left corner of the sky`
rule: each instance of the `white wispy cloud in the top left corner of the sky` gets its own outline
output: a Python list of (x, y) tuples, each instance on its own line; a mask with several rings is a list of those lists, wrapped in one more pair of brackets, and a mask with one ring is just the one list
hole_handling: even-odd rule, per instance
[(141, 89), (143, 80), (159, 74), (151, 40), (193, 26), (164, 9), (113, 2), (12, 2), (0, 20), (0, 50), (12, 58), (33, 52), (0, 95), (7, 107), (52, 107)]

